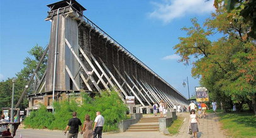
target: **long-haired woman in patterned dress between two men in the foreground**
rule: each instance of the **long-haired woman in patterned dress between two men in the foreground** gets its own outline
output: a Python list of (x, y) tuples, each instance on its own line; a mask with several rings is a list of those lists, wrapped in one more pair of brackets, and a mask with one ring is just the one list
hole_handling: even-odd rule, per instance
[(92, 120), (90, 120), (90, 116), (86, 115), (84, 119), (84, 126), (82, 127), (81, 134), (83, 138), (92, 138), (93, 131), (92, 131)]

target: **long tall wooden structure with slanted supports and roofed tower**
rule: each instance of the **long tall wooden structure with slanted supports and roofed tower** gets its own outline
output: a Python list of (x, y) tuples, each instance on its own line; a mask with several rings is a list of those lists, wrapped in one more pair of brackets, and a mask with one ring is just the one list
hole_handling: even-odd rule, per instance
[(64, 0), (48, 7), (46, 20), (52, 22), (52, 28), (47, 71), (36, 79), (29, 109), (36, 109), (38, 103), (52, 109), (53, 83), (56, 98), (64, 93), (79, 94), (82, 89), (99, 93), (114, 89), (123, 102), (126, 96), (135, 96), (136, 107), (141, 109), (160, 100), (169, 107), (187, 105), (181, 93), (86, 18), (81, 4)]

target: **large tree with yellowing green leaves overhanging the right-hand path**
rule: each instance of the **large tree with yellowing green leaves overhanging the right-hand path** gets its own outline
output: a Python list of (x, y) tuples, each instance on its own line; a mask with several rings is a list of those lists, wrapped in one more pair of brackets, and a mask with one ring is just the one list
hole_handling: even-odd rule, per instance
[[(174, 46), (185, 64), (192, 63), (192, 76), (201, 78), (200, 83), (209, 89), (214, 100), (230, 108), (230, 102), (243, 104), (251, 101), (256, 114), (256, 47), (255, 40), (247, 36), (250, 29), (240, 16), (230, 16), (219, 8), (200, 26), (192, 19), (187, 37), (179, 38)], [(209, 38), (221, 33), (216, 41)], [(191, 61), (191, 56), (195, 60)]]

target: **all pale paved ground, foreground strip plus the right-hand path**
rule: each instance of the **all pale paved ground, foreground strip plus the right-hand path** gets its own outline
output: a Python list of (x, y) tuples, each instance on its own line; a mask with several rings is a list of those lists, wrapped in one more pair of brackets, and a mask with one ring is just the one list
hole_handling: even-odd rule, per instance
[[(179, 134), (177, 135), (164, 135), (160, 132), (120, 132), (120, 133), (104, 133), (104, 138), (183, 138), (183, 137), (192, 137), (193, 135), (187, 134), (187, 129), (189, 127), (189, 113), (177, 113), (178, 116), (183, 117), (184, 123), (181, 126), (181, 129), (179, 130)], [(214, 114), (208, 114), (208, 117), (206, 119), (199, 119), (199, 122), (201, 123), (199, 125), (199, 132), (198, 137), (204, 138), (204, 137), (217, 137), (217, 138), (223, 138), (226, 137), (223, 135), (223, 131), (220, 129), (220, 124), (218, 122), (218, 117)], [(215, 132), (215, 134), (214, 134)], [(216, 133), (218, 132), (218, 133)], [(23, 138), (46, 138), (46, 137), (67, 137), (64, 135), (63, 131), (60, 130), (38, 130), (38, 129), (21, 129), (19, 128), (17, 130), (17, 135), (15, 137), (19, 137), (19, 135), (22, 135)], [(79, 134), (79, 138), (81, 138), (82, 135)]]

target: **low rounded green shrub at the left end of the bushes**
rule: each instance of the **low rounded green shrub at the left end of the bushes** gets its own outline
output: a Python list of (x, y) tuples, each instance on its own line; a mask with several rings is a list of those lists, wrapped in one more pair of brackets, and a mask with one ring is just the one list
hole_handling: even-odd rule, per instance
[(32, 111), (30, 116), (26, 117), (25, 125), (26, 127), (31, 127), (33, 129), (45, 129), (54, 120), (54, 116), (51, 112), (47, 112), (47, 108), (41, 105), (40, 109)]

